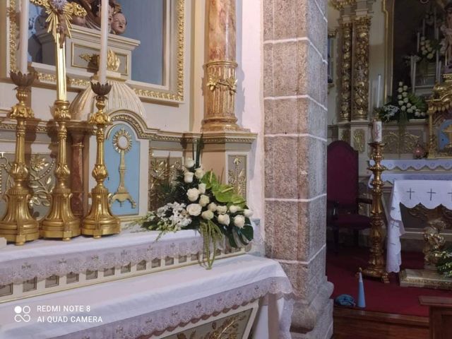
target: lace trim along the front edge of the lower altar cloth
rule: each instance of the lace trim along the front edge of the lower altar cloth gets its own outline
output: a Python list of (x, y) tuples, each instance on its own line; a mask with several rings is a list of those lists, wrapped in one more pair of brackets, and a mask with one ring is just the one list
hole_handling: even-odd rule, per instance
[(147, 338), (150, 335), (160, 335), (166, 330), (171, 331), (179, 326), (197, 323), (201, 319), (208, 319), (210, 316), (236, 309), (266, 295), (283, 295), (286, 299), (282, 319), (280, 319), (280, 335), (278, 338), (291, 338), (290, 323), (294, 304), (292, 285), (287, 278), (279, 277), (267, 278), (193, 302), (115, 321), (114, 323), (106, 323), (102, 326), (88, 328), (55, 339), (132, 339), (141, 335), (145, 335)]

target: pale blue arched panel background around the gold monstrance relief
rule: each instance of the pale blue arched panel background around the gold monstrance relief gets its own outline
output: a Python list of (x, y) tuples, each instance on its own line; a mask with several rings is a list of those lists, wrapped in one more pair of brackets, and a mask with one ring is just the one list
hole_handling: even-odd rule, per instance
[(126, 153), (126, 174), (124, 178), (126, 189), (136, 202), (136, 208), (132, 208), (129, 201), (125, 201), (120, 206), (119, 201), (114, 201), (112, 204), (112, 213), (115, 215), (137, 215), (140, 191), (140, 143), (136, 140), (136, 135), (133, 129), (126, 124), (116, 124), (108, 131), (108, 138), (105, 141), (105, 165), (107, 165), (108, 178), (105, 180), (105, 186), (111, 194), (117, 191), (119, 186), (119, 161), (121, 156), (114, 149), (113, 136), (114, 133), (120, 129), (125, 129), (131, 135), (132, 148)]

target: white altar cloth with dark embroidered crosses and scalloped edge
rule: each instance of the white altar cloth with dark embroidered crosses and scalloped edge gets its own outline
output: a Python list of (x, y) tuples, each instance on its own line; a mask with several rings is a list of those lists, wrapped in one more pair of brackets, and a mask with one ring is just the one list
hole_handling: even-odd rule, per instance
[(386, 246), (386, 270), (398, 272), (402, 258), (400, 256), (400, 236), (405, 233), (400, 203), (413, 208), (422, 203), (427, 208), (443, 204), (452, 209), (452, 181), (441, 180), (396, 180), (391, 193), (388, 213), (388, 239)]

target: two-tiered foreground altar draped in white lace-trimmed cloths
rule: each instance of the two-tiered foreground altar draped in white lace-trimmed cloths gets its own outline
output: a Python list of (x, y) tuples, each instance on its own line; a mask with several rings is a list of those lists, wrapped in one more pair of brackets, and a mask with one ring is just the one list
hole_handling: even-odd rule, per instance
[(156, 237), (8, 245), (0, 338), (290, 338), (292, 286), (279, 263), (223, 248), (206, 270), (196, 232)]

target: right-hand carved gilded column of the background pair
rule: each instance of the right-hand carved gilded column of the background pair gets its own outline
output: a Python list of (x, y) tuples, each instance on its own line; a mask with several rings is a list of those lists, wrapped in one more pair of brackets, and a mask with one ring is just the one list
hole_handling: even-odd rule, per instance
[(369, 111), (369, 30), (370, 16), (354, 20), (352, 120), (367, 120)]

